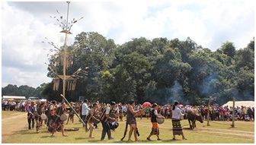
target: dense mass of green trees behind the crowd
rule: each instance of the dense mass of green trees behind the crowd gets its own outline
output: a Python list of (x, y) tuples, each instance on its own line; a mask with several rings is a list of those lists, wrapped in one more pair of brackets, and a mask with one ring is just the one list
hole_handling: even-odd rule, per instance
[[(66, 91), (69, 101), (78, 101), (78, 96), (91, 102), (125, 103), (134, 99), (162, 105), (174, 100), (203, 105), (210, 97), (219, 104), (233, 96), (236, 100), (254, 100), (254, 39), (243, 49), (235, 49), (234, 43), (226, 41), (212, 52), (189, 37), (140, 37), (117, 45), (99, 33), (82, 32), (68, 52), (73, 65), (67, 75), (88, 67), (88, 75), (77, 80), (75, 90)], [(50, 64), (53, 61), (50, 59)], [(62, 67), (56, 70), (62, 74)], [(47, 75), (53, 77), (50, 69)], [(43, 96), (59, 101), (61, 93), (62, 83), (59, 90), (53, 90), (53, 82), (41, 90)]]

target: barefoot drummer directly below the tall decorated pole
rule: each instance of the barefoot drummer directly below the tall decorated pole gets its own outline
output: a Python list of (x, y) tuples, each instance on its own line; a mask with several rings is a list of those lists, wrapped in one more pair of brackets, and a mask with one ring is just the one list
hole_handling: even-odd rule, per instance
[(66, 102), (62, 102), (62, 106), (58, 107), (56, 109), (56, 111), (54, 112), (55, 118), (53, 119), (54, 125), (53, 125), (53, 131), (52, 131), (51, 137), (55, 137), (54, 134), (56, 133), (57, 128), (59, 128), (59, 125), (61, 127), (62, 136), (68, 137), (64, 131), (64, 121), (62, 121), (62, 119), (61, 119), (62, 115), (66, 115), (65, 112), (66, 112)]

